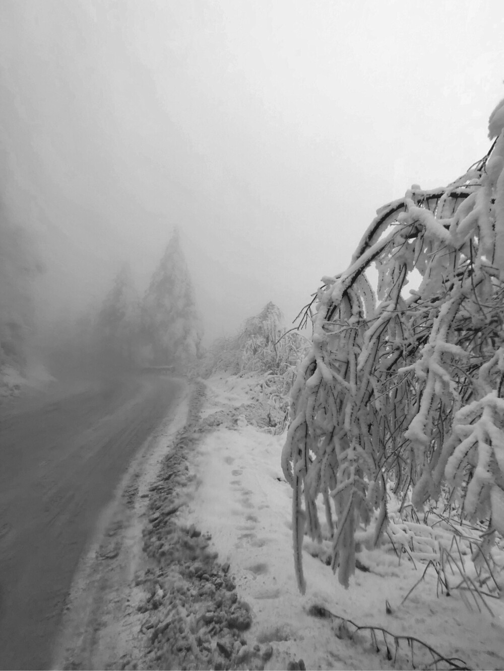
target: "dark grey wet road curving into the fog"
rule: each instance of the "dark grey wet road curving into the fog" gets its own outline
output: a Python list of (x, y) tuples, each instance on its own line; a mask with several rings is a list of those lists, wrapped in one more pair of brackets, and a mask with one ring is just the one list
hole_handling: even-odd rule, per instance
[(0, 406), (0, 668), (45, 669), (79, 558), (181, 384), (139, 375)]

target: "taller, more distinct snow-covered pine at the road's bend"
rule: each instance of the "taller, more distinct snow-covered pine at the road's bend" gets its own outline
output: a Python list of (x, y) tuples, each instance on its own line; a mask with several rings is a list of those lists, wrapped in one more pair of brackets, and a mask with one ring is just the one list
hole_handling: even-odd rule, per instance
[(141, 314), (146, 360), (185, 372), (200, 355), (203, 328), (177, 229), (153, 274)]

